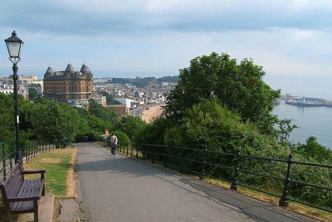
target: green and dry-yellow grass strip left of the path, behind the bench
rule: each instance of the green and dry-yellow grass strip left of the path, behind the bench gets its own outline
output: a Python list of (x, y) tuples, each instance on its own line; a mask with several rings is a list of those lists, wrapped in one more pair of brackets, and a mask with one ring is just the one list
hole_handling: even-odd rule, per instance
[[(66, 196), (72, 191), (68, 189), (73, 187), (72, 170), (76, 151), (76, 148), (64, 148), (44, 152), (25, 163), (24, 169), (45, 169), (45, 191), (55, 196)], [(36, 175), (25, 177), (36, 178)]]

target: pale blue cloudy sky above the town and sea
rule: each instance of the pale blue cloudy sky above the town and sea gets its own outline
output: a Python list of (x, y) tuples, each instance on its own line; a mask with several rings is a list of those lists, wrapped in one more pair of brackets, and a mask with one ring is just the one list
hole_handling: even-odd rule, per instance
[[(24, 41), (19, 74), (86, 62), (94, 77), (177, 75), (192, 58), (253, 58), (282, 93), (332, 99), (332, 0), (15, 0), (2, 39)], [(3, 42), (0, 76), (12, 73)]]

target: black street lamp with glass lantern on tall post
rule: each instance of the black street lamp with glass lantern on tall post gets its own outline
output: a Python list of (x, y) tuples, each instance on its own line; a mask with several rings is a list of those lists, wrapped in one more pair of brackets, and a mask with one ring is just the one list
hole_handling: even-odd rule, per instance
[(15, 130), (16, 130), (16, 157), (15, 162), (18, 160), (20, 163), (22, 160), (22, 151), (21, 145), (19, 142), (19, 118), (18, 118), (18, 94), (17, 94), (17, 63), (21, 60), (20, 54), (22, 51), (23, 41), (17, 37), (16, 32), (12, 31), (11, 36), (7, 39), (4, 39), (7, 45), (9, 60), (12, 62), (13, 75), (12, 79), (14, 80), (14, 100), (15, 100)]

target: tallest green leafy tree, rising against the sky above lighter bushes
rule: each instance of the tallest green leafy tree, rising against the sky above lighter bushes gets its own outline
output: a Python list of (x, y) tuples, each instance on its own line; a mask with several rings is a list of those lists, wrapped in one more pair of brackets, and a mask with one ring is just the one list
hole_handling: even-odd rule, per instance
[(174, 120), (183, 116), (202, 99), (216, 98), (219, 104), (238, 112), (245, 122), (254, 122), (261, 132), (275, 132), (273, 124), (278, 118), (271, 114), (273, 101), (280, 90), (272, 90), (262, 77), (262, 66), (252, 59), (243, 59), (239, 64), (227, 53), (196, 57), (190, 66), (180, 69), (180, 80), (168, 94), (165, 114)]

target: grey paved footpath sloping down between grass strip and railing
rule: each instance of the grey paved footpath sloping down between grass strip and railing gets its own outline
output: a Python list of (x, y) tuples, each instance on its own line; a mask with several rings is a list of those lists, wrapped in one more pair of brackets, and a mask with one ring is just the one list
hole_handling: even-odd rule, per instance
[(82, 207), (91, 221), (317, 221), (110, 150), (78, 143)]

